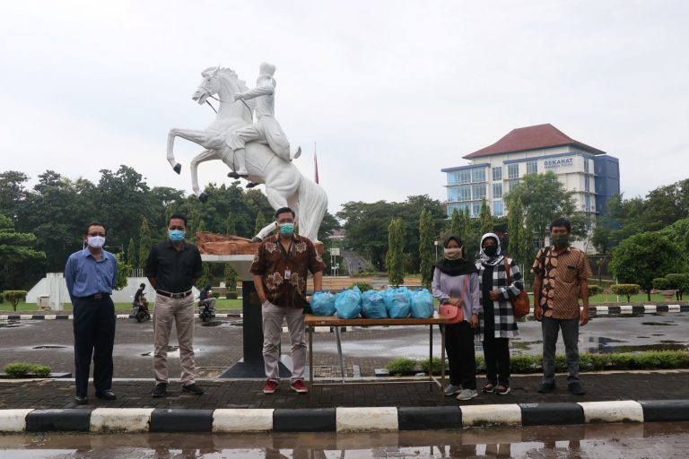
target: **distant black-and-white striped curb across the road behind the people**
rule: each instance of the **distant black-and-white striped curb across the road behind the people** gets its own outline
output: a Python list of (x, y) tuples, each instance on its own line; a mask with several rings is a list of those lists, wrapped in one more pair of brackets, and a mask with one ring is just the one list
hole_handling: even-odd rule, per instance
[[(589, 314), (596, 314), (605, 316), (607, 314), (655, 314), (657, 312), (689, 312), (689, 305), (618, 305), (618, 306), (589, 306)], [(533, 315), (534, 309), (531, 309), (529, 314)], [(117, 314), (118, 319), (133, 319), (131, 314)], [(198, 314), (194, 315), (199, 318)], [(153, 317), (153, 315), (152, 315)], [(237, 313), (218, 313), (214, 318), (241, 318), (241, 314)], [(7, 314), (0, 316), (0, 320), (73, 320), (74, 316), (71, 314)], [(343, 332), (351, 332), (351, 326), (342, 326), (340, 329)], [(286, 331), (287, 328), (285, 327)], [(317, 333), (333, 332), (333, 327), (317, 326), (315, 327)]]

